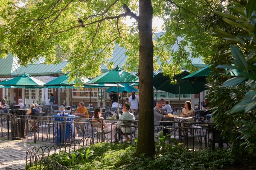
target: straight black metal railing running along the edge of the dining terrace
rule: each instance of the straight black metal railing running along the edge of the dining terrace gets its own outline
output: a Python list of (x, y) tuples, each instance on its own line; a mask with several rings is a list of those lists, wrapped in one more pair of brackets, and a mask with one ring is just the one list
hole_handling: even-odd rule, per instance
[[(83, 119), (82, 122), (81, 119)], [(99, 122), (99, 126), (94, 126), (95, 121)], [(120, 128), (116, 128), (114, 123), (117, 121), (105, 119), (104, 123), (102, 119), (84, 118), (69, 119), (68, 121), (65, 117), (62, 121), (56, 121), (52, 116), (21, 116), (2, 113), (0, 114), (0, 136), (5, 136), (8, 139), (25, 138), (34, 140), (35, 143), (41, 141), (56, 144), (81, 140), (86, 145), (90, 145), (103, 141), (125, 142), (127, 138), (134, 142), (138, 136), (138, 121), (124, 121)], [(77, 123), (76, 127), (75, 123)], [(183, 143), (183, 146), (200, 149), (209, 147), (209, 141), (215, 143), (215, 130), (208, 122), (158, 121), (155, 124), (157, 124), (154, 125), (155, 136), (159, 131), (163, 131), (170, 134), (170, 138), (175, 138), (177, 142)]]

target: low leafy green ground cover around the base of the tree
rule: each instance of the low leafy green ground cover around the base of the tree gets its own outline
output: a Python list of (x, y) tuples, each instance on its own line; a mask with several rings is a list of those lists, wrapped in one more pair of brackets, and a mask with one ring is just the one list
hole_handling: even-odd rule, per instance
[[(160, 134), (161, 136), (161, 134)], [(84, 162), (75, 160), (76, 164), (69, 166), (72, 170), (218, 170), (230, 167), (235, 162), (235, 156), (228, 150), (198, 150), (174, 147), (175, 150), (165, 150), (154, 158), (134, 157), (136, 146), (130, 144), (99, 143), (90, 146), (94, 153)], [(72, 153), (73, 154), (73, 153)], [(61, 154), (58, 157), (64, 157)], [(77, 157), (78, 159), (79, 157)], [(80, 162), (79, 162), (80, 161)], [(79, 163), (78, 163), (79, 162)]]

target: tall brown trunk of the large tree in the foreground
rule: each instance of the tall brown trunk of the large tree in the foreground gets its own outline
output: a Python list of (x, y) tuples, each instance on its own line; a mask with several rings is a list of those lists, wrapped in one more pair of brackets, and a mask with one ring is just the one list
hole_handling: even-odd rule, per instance
[(139, 132), (136, 155), (154, 156), (154, 115), (153, 115), (153, 41), (151, 0), (140, 0), (140, 64), (139, 64)]

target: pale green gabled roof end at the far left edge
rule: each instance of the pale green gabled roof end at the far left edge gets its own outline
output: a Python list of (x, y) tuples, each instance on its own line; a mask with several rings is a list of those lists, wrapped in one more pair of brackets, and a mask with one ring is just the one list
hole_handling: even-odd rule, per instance
[[(12, 77), (17, 76), (17, 69), (19, 68), (18, 60), (11, 53), (6, 58), (0, 58), (0, 76)], [(23, 72), (24, 73), (24, 72)]]

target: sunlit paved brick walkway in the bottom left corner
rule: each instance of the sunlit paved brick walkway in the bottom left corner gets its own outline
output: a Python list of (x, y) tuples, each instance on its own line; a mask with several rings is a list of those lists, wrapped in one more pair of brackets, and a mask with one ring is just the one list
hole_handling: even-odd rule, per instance
[(7, 140), (0, 137), (0, 170), (24, 170), (26, 166), (26, 150), (29, 147), (45, 146), (49, 143), (32, 140)]

